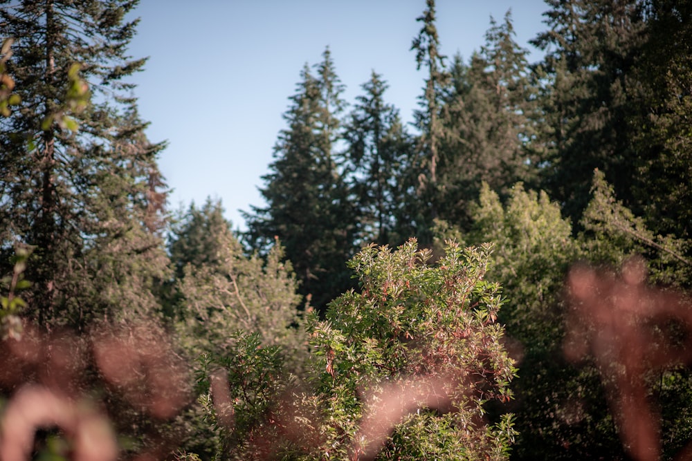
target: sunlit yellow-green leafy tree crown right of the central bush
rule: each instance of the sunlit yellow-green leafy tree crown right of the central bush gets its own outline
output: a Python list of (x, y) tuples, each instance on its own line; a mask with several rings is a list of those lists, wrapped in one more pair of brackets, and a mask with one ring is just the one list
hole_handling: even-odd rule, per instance
[(570, 221), (541, 191), (525, 191), (521, 183), (509, 192), (506, 205), (487, 184), (473, 208), (474, 245), (493, 242), (489, 278), (502, 285), (509, 302), (500, 319), (509, 335), (527, 348), (556, 352), (563, 323), (559, 293), (580, 251)]

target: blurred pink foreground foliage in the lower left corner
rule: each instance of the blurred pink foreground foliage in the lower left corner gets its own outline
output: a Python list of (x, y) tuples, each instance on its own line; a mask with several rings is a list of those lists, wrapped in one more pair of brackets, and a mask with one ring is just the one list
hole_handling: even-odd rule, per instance
[[(190, 400), (188, 370), (154, 323), (104, 325), (90, 335), (24, 331), (0, 343), (0, 388), (10, 395), (0, 419), (3, 461), (30, 459), (37, 429), (53, 427), (75, 461), (118, 458), (116, 433), (105, 403), (94, 400), (95, 386), (105, 385), (159, 422)], [(175, 448), (151, 439), (136, 459), (162, 459)]]

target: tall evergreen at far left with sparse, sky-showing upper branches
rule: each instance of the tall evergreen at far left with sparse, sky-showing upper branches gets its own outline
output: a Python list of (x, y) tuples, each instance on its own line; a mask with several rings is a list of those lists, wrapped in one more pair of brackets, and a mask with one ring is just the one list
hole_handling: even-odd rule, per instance
[[(40, 323), (84, 326), (157, 308), (152, 286), (167, 265), (156, 165), (163, 144), (145, 138), (123, 81), (144, 64), (127, 56), (137, 21), (125, 15), (136, 3), (0, 2), (21, 96), (0, 126), (0, 247), (4, 265), (15, 242), (35, 245), (26, 296)], [(70, 119), (58, 115), (75, 63), (93, 95)]]

